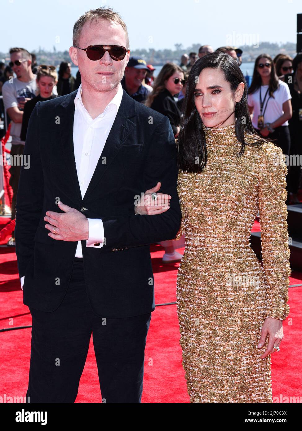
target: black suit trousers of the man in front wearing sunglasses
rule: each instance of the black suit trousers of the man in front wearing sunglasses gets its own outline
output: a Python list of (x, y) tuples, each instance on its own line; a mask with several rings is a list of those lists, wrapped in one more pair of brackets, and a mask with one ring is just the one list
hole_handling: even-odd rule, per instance
[(89, 304), (80, 258), (75, 258), (60, 306), (53, 312), (29, 310), (31, 360), (26, 396), (30, 397), (30, 403), (75, 402), (91, 333), (102, 402), (140, 403), (151, 312), (122, 319), (95, 315)]

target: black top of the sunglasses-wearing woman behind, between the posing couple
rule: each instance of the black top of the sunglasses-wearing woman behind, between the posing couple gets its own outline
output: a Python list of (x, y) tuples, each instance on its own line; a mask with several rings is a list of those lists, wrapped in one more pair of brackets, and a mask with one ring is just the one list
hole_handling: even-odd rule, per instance
[(176, 135), (177, 126), (179, 126), (181, 122), (181, 111), (178, 109), (170, 91), (165, 88), (164, 91), (159, 93), (153, 100), (151, 108), (168, 117), (173, 133)]

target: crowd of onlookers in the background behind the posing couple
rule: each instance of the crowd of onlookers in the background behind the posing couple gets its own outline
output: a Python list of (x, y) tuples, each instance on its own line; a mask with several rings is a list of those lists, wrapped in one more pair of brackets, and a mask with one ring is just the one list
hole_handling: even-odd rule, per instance
[[(240, 48), (225, 46), (217, 48), (216, 51), (229, 54), (239, 66), (241, 65)], [(214, 52), (212, 46), (202, 45), (198, 53), (184, 53), (179, 65), (167, 62), (156, 78), (153, 76), (155, 68), (151, 64), (147, 64), (141, 57), (132, 56), (121, 85), (137, 102), (168, 116), (174, 137), (177, 138), (190, 69), (198, 59), (212, 52)], [(11, 56), (9, 64), (0, 63), (0, 94), (3, 94), (2, 109), (6, 109), (7, 118), (12, 121), (13, 156), (22, 154), (29, 117), (35, 104), (75, 91), (81, 84), (81, 75), (78, 72), (76, 77), (72, 76), (70, 62), (61, 62), (57, 72), (55, 66), (38, 65), (35, 54), (23, 48), (12, 48), (9, 53)], [(17, 79), (11, 80), (13, 73)], [(281, 53), (274, 59), (265, 53), (257, 57), (248, 94), (252, 124), (259, 135), (274, 140), (288, 156), (288, 160), (290, 156), (296, 157), (300, 153), (301, 91), (302, 53), (298, 53), (294, 59)], [(19, 172), (20, 166), (11, 166), (12, 219), (15, 218)], [(300, 203), (298, 198), (300, 182), (301, 169), (299, 163), (296, 163), (288, 169), (286, 181), (288, 204)], [(14, 240), (9, 244), (14, 244)], [(171, 244), (166, 246), (165, 250), (163, 262), (181, 260), (182, 255), (176, 250), (172, 251)]]

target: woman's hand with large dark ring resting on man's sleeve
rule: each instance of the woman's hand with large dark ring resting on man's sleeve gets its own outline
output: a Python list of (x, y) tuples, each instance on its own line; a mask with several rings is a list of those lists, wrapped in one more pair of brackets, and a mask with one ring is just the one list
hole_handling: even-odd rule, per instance
[[(135, 205), (135, 214), (156, 215), (168, 211), (170, 208), (171, 196), (169, 194), (157, 193), (157, 191), (160, 189), (160, 186), (161, 183), (158, 182), (155, 187), (145, 191), (143, 202), (140, 199), (140, 202)], [(157, 194), (157, 200), (151, 199), (151, 194), (155, 192)]]

